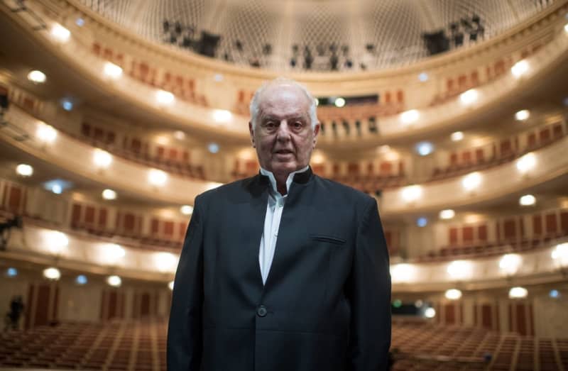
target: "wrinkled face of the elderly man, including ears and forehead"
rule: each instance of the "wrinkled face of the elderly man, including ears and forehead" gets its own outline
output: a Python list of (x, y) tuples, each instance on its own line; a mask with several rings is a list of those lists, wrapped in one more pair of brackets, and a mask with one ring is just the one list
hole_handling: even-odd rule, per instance
[(288, 175), (310, 162), (320, 124), (312, 129), (310, 99), (292, 84), (266, 87), (260, 97), (256, 128), (249, 123), (261, 167)]

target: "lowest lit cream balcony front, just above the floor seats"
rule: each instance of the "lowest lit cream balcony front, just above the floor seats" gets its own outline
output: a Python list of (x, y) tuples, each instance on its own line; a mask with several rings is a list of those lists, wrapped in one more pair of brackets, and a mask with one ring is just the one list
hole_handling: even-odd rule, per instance
[[(21, 260), (41, 265), (125, 277), (169, 281), (173, 277), (178, 255), (125, 247), (116, 254), (109, 243), (67, 234), (26, 223), (15, 230), (4, 259)], [(64, 240), (64, 242), (62, 242)], [(391, 265), (393, 289), (396, 292), (439, 290), (458, 285), (463, 289), (504, 287), (513, 278), (518, 284), (555, 282), (568, 269), (567, 243), (548, 245), (539, 250), (516, 255), (521, 264), (503, 268), (501, 256), (454, 260), (452, 262), (402, 263)], [(72, 247), (72, 248), (71, 248)], [(514, 268), (514, 270), (513, 270)]]

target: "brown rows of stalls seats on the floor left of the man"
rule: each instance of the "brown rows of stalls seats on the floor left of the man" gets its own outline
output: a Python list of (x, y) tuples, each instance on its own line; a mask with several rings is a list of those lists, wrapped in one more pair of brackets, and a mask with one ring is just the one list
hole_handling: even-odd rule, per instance
[(58, 323), (0, 334), (0, 367), (166, 370), (166, 323)]

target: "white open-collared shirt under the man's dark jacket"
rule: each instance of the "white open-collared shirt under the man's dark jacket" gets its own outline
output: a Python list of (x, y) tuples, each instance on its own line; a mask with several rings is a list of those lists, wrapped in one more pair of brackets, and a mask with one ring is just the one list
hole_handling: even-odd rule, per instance
[(273, 173), (261, 167), (261, 174), (266, 175), (271, 181), (271, 189), (268, 192), (268, 204), (266, 205), (266, 216), (264, 217), (264, 230), (261, 237), (261, 248), (258, 250), (258, 263), (261, 265), (263, 284), (266, 284), (268, 272), (271, 270), (276, 249), (276, 239), (278, 238), (278, 228), (280, 228), (280, 218), (282, 218), (286, 197), (290, 191), (290, 184), (292, 184), (294, 175), (298, 172), (305, 172), (307, 168), (306, 166), (303, 169), (290, 172), (288, 179), (286, 179), (286, 194), (283, 196), (276, 188), (276, 179)]

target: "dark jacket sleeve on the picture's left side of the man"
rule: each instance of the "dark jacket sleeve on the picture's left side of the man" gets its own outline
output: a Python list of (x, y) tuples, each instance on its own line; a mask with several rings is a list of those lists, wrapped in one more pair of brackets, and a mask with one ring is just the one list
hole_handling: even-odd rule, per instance
[(200, 370), (202, 358), (203, 219), (195, 199), (173, 285), (168, 323), (168, 370)]

